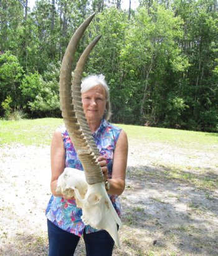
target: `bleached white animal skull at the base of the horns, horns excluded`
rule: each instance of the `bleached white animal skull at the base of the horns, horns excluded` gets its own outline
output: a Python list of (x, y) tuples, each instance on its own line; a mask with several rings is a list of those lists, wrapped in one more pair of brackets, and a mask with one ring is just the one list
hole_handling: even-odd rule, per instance
[(107, 230), (120, 248), (117, 224), (121, 227), (121, 220), (110, 201), (104, 182), (88, 184), (83, 171), (65, 168), (59, 176), (56, 192), (75, 197), (77, 207), (82, 208), (84, 224), (94, 229)]

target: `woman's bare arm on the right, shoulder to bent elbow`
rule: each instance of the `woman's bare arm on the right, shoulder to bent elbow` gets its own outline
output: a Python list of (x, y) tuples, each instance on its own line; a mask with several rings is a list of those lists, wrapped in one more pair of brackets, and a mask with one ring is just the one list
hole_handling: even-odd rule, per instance
[(128, 156), (128, 140), (125, 131), (121, 130), (113, 154), (112, 177), (108, 179), (108, 194), (120, 196), (125, 189), (126, 165)]

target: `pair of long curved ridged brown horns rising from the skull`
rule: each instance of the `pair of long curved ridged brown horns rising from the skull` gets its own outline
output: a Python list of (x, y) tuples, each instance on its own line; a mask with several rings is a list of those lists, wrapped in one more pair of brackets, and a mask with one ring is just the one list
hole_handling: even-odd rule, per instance
[[(88, 45), (87, 49), (85, 49), (80, 57), (80, 60), (78, 61), (72, 82), (72, 94), (74, 100), (72, 100), (72, 96), (70, 95), (70, 89), (72, 80), (72, 64), (75, 50), (83, 33), (85, 32), (85, 29), (87, 29), (94, 15), (95, 14), (92, 14), (92, 16), (88, 17), (73, 34), (72, 39), (70, 40), (65, 51), (60, 69), (60, 107), (62, 110), (62, 116), (64, 118), (67, 131), (69, 132), (70, 138), (73, 142), (73, 146), (78, 154), (78, 158), (82, 163), (85, 171), (85, 178), (88, 184), (102, 182), (103, 174), (97, 161), (97, 157), (95, 156), (95, 154), (98, 155), (99, 153), (97, 147), (95, 146), (95, 142), (93, 141), (92, 133), (88, 124), (85, 124), (86, 120), (84, 120), (85, 115), (82, 108), (80, 85), (85, 62), (100, 37), (97, 37), (97, 39)], [(80, 105), (76, 107), (79, 101)], [(75, 103), (75, 106), (73, 106), (73, 102)], [(80, 125), (80, 121), (78, 122), (77, 115), (79, 116), (82, 125)], [(87, 136), (88, 140), (85, 135)], [(93, 153), (93, 151), (95, 153)]]

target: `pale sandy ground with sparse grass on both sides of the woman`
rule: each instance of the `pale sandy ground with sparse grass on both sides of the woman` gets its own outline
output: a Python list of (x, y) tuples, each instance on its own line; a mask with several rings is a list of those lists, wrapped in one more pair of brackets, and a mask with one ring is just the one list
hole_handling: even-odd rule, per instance
[[(2, 256), (47, 255), (49, 151), (0, 148)], [(121, 250), (113, 255), (218, 255), (216, 152), (130, 141)], [(75, 255), (85, 255), (82, 240)]]

